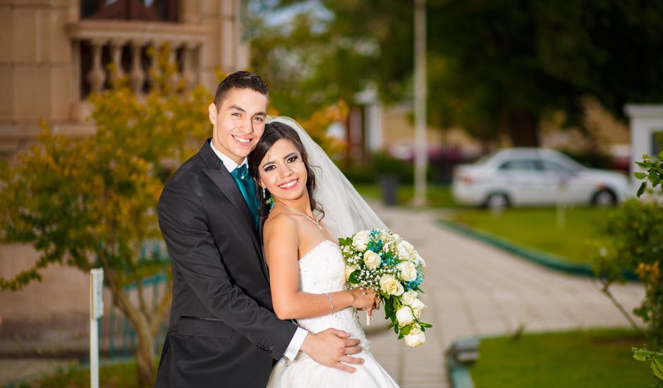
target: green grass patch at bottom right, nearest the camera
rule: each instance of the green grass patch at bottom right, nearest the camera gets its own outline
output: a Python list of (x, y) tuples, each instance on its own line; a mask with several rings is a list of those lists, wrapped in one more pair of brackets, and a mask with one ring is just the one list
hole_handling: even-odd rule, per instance
[(477, 388), (650, 387), (650, 366), (631, 353), (644, 343), (623, 329), (483, 339), (470, 372)]

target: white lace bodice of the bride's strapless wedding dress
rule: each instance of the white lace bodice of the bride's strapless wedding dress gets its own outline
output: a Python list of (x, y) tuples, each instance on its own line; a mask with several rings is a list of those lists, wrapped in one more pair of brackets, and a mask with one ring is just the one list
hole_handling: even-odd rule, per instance
[[(339, 245), (324, 240), (299, 260), (299, 287), (308, 293), (329, 293), (343, 291), (346, 285), (346, 266)], [(370, 348), (363, 329), (359, 324), (357, 310), (345, 308), (331, 315), (303, 318), (297, 324), (309, 332), (322, 332), (333, 327), (350, 333), (350, 337), (360, 341), (364, 350)]]

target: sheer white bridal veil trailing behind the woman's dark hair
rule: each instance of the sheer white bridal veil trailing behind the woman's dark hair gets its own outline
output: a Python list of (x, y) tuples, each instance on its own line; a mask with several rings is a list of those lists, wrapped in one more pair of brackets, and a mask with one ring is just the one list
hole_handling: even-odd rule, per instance
[[(269, 120), (271, 119), (271, 120)], [(345, 238), (363, 229), (388, 230), (377, 214), (361, 198), (357, 190), (343, 175), (336, 164), (329, 159), (320, 145), (306, 133), (296, 121), (289, 117), (268, 117), (268, 122), (278, 121), (297, 131), (308, 162), (315, 173), (315, 201), (322, 205), (322, 223), (334, 238)]]

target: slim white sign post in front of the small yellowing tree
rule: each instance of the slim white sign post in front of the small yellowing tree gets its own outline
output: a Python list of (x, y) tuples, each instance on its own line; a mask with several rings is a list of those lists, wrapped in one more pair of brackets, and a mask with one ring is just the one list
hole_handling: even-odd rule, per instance
[(90, 269), (90, 387), (99, 388), (99, 318), (104, 315), (104, 269)]

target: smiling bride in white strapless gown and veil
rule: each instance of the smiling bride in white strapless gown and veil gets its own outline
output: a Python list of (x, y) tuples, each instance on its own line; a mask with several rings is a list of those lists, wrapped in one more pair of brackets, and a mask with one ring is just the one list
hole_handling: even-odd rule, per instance
[(363, 348), (357, 355), (363, 363), (345, 365), (353, 373), (327, 368), (303, 352), (293, 361), (282, 358), (267, 387), (398, 387), (368, 351), (358, 322), (357, 310), (370, 315), (375, 308), (375, 293), (346, 291), (345, 264), (336, 245), (339, 237), (386, 226), (291, 119), (267, 123), (248, 159), (260, 186), (261, 214), (269, 212), (262, 236), (276, 315), (313, 333), (343, 330)]

